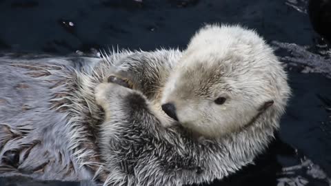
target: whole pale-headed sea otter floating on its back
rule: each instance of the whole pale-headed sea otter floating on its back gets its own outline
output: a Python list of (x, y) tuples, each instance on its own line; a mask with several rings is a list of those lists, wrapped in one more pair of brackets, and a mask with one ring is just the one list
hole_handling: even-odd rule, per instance
[(183, 52), (5, 55), (0, 70), (1, 175), (42, 180), (221, 179), (263, 152), (290, 96), (272, 49), (240, 26), (205, 26)]

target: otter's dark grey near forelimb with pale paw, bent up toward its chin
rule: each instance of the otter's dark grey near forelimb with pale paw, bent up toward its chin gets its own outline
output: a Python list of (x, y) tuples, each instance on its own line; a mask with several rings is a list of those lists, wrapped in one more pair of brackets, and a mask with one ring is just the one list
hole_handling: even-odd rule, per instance
[(188, 178), (187, 183), (204, 173), (197, 153), (203, 152), (201, 146), (182, 136), (181, 130), (162, 127), (141, 92), (117, 83), (100, 83), (94, 94), (106, 113), (100, 147), (101, 158), (112, 170), (107, 184), (167, 185), (182, 176)]

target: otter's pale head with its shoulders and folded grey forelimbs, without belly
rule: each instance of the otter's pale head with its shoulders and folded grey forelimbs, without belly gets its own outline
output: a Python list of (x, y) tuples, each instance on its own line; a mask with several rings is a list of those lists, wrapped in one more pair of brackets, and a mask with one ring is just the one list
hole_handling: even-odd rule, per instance
[(123, 61), (95, 89), (106, 113), (100, 144), (112, 169), (107, 183), (209, 182), (252, 163), (290, 96), (265, 41), (238, 25), (207, 25), (174, 63), (155, 61), (141, 71), (141, 61)]

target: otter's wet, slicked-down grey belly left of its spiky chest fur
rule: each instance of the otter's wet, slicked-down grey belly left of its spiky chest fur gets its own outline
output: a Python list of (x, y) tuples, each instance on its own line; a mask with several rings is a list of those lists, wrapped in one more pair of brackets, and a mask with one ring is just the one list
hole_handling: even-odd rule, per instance
[(58, 100), (69, 93), (64, 84), (72, 69), (83, 65), (66, 59), (0, 58), (0, 176), (91, 176), (72, 158), (70, 116), (61, 112), (65, 104)]

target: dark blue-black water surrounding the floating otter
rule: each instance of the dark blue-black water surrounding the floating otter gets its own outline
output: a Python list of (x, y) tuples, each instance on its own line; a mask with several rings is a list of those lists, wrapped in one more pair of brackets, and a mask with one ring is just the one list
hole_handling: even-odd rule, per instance
[[(295, 43), (296, 48), (275, 46), (282, 61), (301, 63), (288, 66), (294, 94), (279, 137), (255, 165), (213, 185), (331, 185), (327, 176), (331, 175), (331, 80), (302, 73), (307, 65), (319, 72), (313, 69), (319, 64), (326, 65), (320, 71), (330, 73), (331, 61), (316, 47), (305, 5), (305, 0), (0, 0), (0, 51), (68, 54), (112, 46), (185, 48), (205, 23), (240, 23), (257, 30), (272, 45)], [(0, 178), (0, 185), (88, 183)]]

